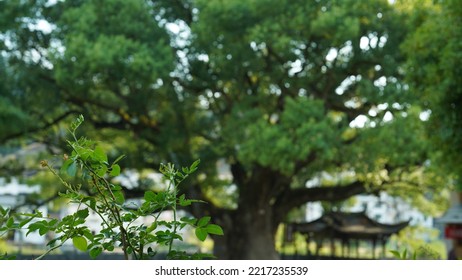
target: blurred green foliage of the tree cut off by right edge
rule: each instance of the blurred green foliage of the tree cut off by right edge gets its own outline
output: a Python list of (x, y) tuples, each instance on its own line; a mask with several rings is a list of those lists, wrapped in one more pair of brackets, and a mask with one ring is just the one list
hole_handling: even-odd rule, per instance
[(428, 134), (437, 164), (458, 179), (462, 190), (462, 5), (457, 0), (422, 2), (405, 43), (408, 80), (430, 115)]

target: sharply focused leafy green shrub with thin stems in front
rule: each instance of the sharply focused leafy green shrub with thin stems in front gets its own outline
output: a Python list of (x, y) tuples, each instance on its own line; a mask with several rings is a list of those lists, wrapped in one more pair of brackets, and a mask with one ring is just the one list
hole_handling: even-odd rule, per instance
[[(188, 255), (175, 250), (175, 241), (183, 241), (181, 230), (185, 227), (195, 229), (196, 237), (204, 241), (209, 234), (223, 235), (220, 226), (211, 224), (210, 217), (181, 218), (178, 207), (187, 207), (192, 203), (202, 201), (187, 199), (179, 195), (179, 185), (197, 170), (199, 160), (189, 167), (176, 169), (173, 164), (161, 165), (160, 172), (167, 180), (165, 191), (144, 193), (141, 205), (127, 203), (122, 187), (111, 182), (110, 178), (120, 174), (118, 162), (123, 156), (109, 163), (108, 157), (100, 145), (84, 137), (77, 138), (76, 130), (83, 123), (79, 116), (71, 124), (70, 156), (65, 155), (61, 172), (56, 171), (47, 161), (42, 161), (42, 167), (47, 168), (60, 179), (66, 191), (60, 195), (70, 203), (77, 205), (77, 210), (61, 220), (45, 217), (41, 212), (13, 214), (8, 209), (0, 209), (0, 236), (10, 230), (26, 228), (26, 235), (36, 232), (45, 235), (52, 232), (57, 236), (47, 244), (47, 251), (37, 259), (43, 258), (51, 251), (60, 248), (67, 241), (80, 251), (89, 252), (96, 258), (103, 251), (114, 251), (120, 248), (125, 259), (148, 259), (156, 253), (159, 245), (167, 248), (167, 258), (188, 259), (211, 257), (207, 254)], [(61, 175), (67, 173), (70, 177), (81, 176), (87, 183), (86, 191), (82, 185), (69, 183)], [(93, 233), (86, 225), (90, 211), (96, 213), (101, 220), (101, 231)], [(172, 211), (173, 220), (160, 219), (165, 211)], [(144, 224), (142, 218), (151, 217), (152, 223)]]

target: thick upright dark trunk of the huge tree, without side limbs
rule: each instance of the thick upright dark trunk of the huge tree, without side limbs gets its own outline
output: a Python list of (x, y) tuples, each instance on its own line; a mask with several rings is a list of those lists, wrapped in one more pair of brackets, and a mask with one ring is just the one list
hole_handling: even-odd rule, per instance
[[(217, 224), (225, 235), (216, 237), (214, 254), (219, 259), (267, 260), (279, 259), (274, 244), (281, 213), (275, 213), (274, 197), (284, 185), (281, 174), (256, 166), (246, 173), (239, 163), (231, 165), (234, 182), (239, 188), (238, 207), (224, 211)], [(287, 214), (287, 213), (286, 213)]]

